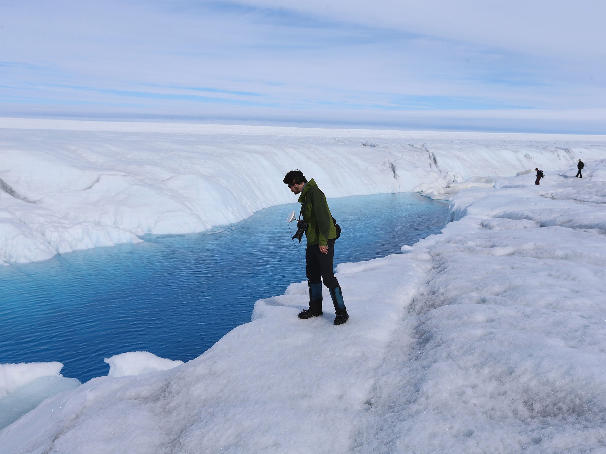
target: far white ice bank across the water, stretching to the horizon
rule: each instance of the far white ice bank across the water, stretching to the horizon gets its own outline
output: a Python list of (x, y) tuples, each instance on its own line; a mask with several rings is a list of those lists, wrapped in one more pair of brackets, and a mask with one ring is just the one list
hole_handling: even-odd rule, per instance
[(7, 118), (0, 134), (0, 263), (238, 222), (292, 202), (282, 178), (295, 168), (328, 197), (450, 200), (493, 185), (482, 177), (606, 157), (604, 136)]

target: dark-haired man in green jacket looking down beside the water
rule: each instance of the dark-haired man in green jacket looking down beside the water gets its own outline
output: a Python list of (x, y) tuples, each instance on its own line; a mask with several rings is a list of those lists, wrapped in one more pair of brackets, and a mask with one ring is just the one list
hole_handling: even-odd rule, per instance
[(322, 280), (330, 292), (335, 306), (335, 324), (343, 324), (349, 318), (339, 281), (333, 271), (335, 258), (335, 240), (337, 231), (333, 216), (328, 209), (326, 196), (316, 182), (309, 182), (300, 170), (291, 170), (284, 177), (284, 183), (290, 191), (299, 196), (303, 220), (307, 223), (305, 237), (305, 271), (309, 286), (309, 309), (299, 314), (299, 318), (311, 318), (322, 315)]

